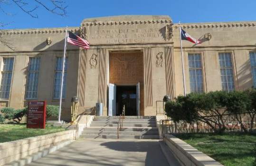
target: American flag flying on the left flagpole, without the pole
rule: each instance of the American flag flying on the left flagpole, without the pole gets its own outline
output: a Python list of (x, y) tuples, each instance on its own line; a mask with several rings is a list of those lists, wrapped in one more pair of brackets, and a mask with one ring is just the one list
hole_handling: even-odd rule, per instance
[(67, 42), (82, 47), (84, 49), (89, 49), (90, 47), (89, 43), (85, 39), (73, 34), (72, 32), (68, 32)]

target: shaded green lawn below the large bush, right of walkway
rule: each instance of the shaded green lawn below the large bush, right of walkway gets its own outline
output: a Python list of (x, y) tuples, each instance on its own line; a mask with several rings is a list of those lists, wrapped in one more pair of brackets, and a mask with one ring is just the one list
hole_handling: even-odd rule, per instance
[(191, 133), (175, 136), (224, 166), (256, 166), (256, 134)]

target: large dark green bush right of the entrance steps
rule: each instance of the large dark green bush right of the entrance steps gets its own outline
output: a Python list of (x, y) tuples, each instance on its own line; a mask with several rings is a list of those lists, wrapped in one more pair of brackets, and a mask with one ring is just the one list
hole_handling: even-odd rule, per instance
[[(256, 116), (256, 89), (248, 91), (214, 91), (207, 94), (190, 93), (187, 96), (178, 96), (175, 101), (168, 102), (165, 105), (165, 112), (167, 116), (171, 117), (173, 121), (184, 121), (193, 123), (201, 121), (207, 123), (212, 130), (222, 133), (226, 130), (224, 114), (236, 114), (237, 121), (238, 114), (247, 111), (254, 111), (251, 116), (251, 129), (253, 127), (253, 120)], [(247, 132), (245, 126), (241, 124), (242, 129)]]

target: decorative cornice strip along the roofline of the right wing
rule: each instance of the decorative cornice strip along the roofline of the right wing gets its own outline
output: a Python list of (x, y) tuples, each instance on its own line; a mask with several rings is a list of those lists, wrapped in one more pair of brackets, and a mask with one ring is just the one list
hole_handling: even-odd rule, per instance
[[(189, 28), (219, 28), (219, 27), (246, 27), (256, 26), (256, 22), (237, 22), (237, 23), (199, 23), (199, 24), (181, 24), (180, 27), (183, 29)], [(174, 24), (175, 29), (179, 28), (179, 24)]]

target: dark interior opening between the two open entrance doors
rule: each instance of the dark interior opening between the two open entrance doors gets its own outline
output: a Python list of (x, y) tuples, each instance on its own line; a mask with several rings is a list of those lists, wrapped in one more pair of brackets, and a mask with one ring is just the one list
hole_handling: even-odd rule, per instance
[(116, 86), (116, 115), (122, 114), (125, 106), (125, 116), (136, 116), (136, 86)]

